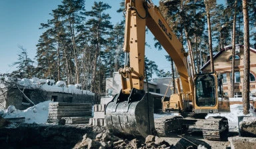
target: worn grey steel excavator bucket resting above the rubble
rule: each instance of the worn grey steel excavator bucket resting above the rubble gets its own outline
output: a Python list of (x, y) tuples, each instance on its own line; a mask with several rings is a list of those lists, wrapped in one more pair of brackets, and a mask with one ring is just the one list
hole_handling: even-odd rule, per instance
[(131, 94), (120, 92), (105, 109), (107, 128), (114, 134), (143, 136), (155, 132), (153, 98), (149, 92), (133, 88)]

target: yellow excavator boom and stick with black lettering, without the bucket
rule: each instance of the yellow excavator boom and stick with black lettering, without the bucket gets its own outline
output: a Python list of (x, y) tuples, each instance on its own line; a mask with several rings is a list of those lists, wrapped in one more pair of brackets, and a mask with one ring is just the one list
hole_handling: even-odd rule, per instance
[[(125, 17), (125, 43), (124, 52), (129, 53), (130, 65), (120, 69), (123, 92), (130, 94), (132, 88), (143, 90), (145, 65), (145, 27), (153, 33), (165, 51), (175, 61), (180, 75), (183, 92), (191, 92), (189, 88), (189, 69), (187, 66), (187, 53), (176, 35), (174, 35), (158, 7), (151, 0), (126, 0)], [(127, 60), (127, 59), (126, 59)]]

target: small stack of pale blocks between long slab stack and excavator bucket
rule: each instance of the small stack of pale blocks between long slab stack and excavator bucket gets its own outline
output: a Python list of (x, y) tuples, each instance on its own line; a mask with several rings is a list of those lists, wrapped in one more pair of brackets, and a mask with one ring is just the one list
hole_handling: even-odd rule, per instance
[(90, 118), (89, 124), (93, 126), (106, 126), (105, 104), (95, 104), (93, 106), (94, 116)]

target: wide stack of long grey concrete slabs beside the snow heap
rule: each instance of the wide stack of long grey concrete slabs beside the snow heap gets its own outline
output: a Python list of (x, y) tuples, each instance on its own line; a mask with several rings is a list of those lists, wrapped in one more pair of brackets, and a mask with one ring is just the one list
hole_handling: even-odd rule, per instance
[(49, 103), (49, 123), (57, 124), (80, 124), (87, 123), (91, 117), (92, 110), (90, 103)]

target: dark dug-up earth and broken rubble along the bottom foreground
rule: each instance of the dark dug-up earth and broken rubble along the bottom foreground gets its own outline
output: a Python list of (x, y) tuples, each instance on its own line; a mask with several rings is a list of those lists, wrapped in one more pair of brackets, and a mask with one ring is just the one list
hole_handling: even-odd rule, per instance
[[(229, 136), (235, 135), (230, 133)], [(204, 140), (196, 134), (145, 139), (114, 136), (106, 127), (87, 124), (9, 124), (0, 128), (1, 148), (229, 148), (226, 141)]]

